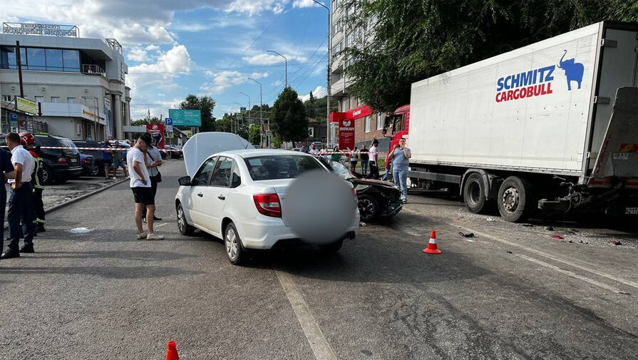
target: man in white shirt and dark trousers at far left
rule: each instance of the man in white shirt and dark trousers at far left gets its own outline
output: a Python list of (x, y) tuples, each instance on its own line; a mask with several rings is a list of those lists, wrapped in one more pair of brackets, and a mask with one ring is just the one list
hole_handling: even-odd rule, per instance
[[(11, 164), (14, 165), (16, 178), (9, 179), (11, 195), (9, 197), (9, 213), (6, 220), (9, 222), (9, 245), (0, 256), (2, 259), (20, 257), (23, 252), (34, 251), (34, 185), (31, 184), (31, 173), (34, 172), (36, 161), (29, 151), (20, 145), (20, 135), (9, 133), (6, 135), (6, 145), (11, 150)], [(20, 248), (20, 235), (23, 235), (24, 245)]]

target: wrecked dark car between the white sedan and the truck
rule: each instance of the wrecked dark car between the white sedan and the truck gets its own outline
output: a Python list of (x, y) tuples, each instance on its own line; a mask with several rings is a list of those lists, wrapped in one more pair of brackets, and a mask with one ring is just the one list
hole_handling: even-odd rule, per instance
[(360, 178), (341, 163), (326, 161), (321, 157), (319, 161), (336, 175), (354, 185), (361, 221), (374, 222), (381, 217), (393, 217), (401, 211), (403, 207), (400, 199), (401, 190), (392, 182)]

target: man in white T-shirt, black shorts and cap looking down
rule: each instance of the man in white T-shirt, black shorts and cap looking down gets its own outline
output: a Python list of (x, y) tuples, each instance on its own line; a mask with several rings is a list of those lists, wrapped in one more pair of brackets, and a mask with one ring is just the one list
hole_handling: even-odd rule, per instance
[[(138, 227), (138, 240), (163, 240), (163, 235), (153, 232), (153, 220), (155, 219), (155, 199), (150, 187), (150, 176), (146, 169), (146, 151), (152, 143), (150, 136), (142, 135), (135, 145), (128, 150), (126, 163), (130, 177), (130, 190), (135, 199), (135, 226)], [(142, 228), (142, 212), (146, 210), (146, 226), (148, 232)]]

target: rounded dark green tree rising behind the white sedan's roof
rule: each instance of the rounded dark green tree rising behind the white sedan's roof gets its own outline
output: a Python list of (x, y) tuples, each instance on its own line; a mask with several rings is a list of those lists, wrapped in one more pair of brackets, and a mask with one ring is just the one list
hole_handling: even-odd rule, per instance
[(287, 86), (279, 93), (270, 110), (270, 126), (281, 141), (299, 141), (308, 137), (306, 108), (299, 94)]

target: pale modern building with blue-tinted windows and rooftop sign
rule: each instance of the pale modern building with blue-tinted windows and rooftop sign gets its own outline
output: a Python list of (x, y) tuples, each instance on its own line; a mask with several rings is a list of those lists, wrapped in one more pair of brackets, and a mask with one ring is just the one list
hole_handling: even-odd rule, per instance
[[(130, 88), (122, 46), (113, 38), (80, 38), (79, 29), (70, 28), (4, 23), (0, 96), (6, 102), (20, 96), (19, 42), (24, 98), (38, 104), (34, 118), (47, 124), (48, 133), (73, 140), (124, 138), (123, 126), (130, 125)], [(7, 115), (2, 117), (6, 132)]]

